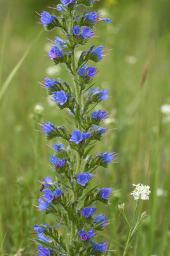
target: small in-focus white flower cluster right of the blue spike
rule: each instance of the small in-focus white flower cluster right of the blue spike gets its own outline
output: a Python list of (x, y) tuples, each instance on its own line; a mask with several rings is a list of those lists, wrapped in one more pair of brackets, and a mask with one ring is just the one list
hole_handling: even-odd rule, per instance
[(132, 185), (136, 186), (136, 188), (134, 189), (134, 191), (132, 191), (130, 195), (133, 195), (135, 200), (149, 200), (150, 186), (143, 186), (143, 184), (140, 185), (140, 183), (138, 185)]

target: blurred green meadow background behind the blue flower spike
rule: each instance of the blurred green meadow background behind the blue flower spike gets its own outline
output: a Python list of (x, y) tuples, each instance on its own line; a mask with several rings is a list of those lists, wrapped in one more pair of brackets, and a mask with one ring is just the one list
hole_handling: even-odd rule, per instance
[[(42, 29), (36, 24), (35, 10), (52, 13), (47, 6), (58, 3), (1, 0), (0, 95), (4, 81)], [(140, 211), (146, 211), (148, 218), (138, 230), (129, 255), (167, 256), (170, 255), (170, 113), (161, 113), (160, 107), (170, 104), (170, 1), (101, 0), (89, 12), (96, 9), (103, 17), (114, 20), (112, 24), (97, 24), (99, 37), (90, 40), (90, 45), (113, 49), (97, 63), (100, 72), (94, 80), (96, 87), (110, 89), (112, 97), (98, 108), (114, 114), (105, 125), (117, 129), (104, 135), (104, 142), (97, 143), (93, 154), (114, 150), (119, 153), (119, 163), (108, 169), (99, 168), (98, 180), (93, 180), (93, 184), (101, 180), (101, 188), (114, 185), (115, 190), (121, 189), (111, 197), (107, 208), (97, 205), (100, 212), (106, 212), (108, 220), (115, 218), (97, 241), (109, 241), (113, 232), (111, 250), (117, 251), (110, 255), (122, 255), (128, 230), (117, 205), (125, 202), (127, 218), (131, 221), (135, 202), (129, 193), (134, 189), (132, 183), (141, 182), (152, 191), (150, 200), (140, 205)], [(20, 248), (24, 249), (22, 255), (36, 252), (33, 249), (36, 246), (29, 240), (34, 236), (29, 233), (32, 231), (29, 226), (45, 220), (53, 225), (49, 216), (44, 219), (41, 212), (34, 210), (33, 204), (38, 204), (36, 198), (40, 195), (37, 180), (51, 174), (46, 159), (52, 154), (45, 136), (34, 129), (38, 122), (48, 120), (67, 127), (66, 111), (56, 111), (50, 100), (44, 99), (46, 92), (37, 83), (43, 80), (44, 74), (70, 83), (66, 72), (60, 67), (53, 68), (45, 56), (45, 51), (50, 49), (46, 37), (54, 35), (62, 36), (59, 29), (39, 36), (0, 101), (1, 255), (14, 255)], [(141, 82), (145, 76), (145, 83)], [(34, 113), (36, 104), (45, 108), (42, 117)], [(60, 234), (63, 232), (61, 227)]]

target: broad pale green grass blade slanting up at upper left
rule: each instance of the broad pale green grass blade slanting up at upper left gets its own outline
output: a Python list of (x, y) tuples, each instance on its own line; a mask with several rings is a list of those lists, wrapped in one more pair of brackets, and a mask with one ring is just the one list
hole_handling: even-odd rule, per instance
[(13, 70), (11, 71), (11, 73), (9, 74), (9, 76), (6, 78), (6, 80), (4, 81), (2, 87), (1, 87), (1, 91), (0, 91), (0, 102), (1, 99), (3, 97), (4, 92), (7, 90), (11, 80), (13, 79), (13, 77), (15, 76), (15, 74), (17, 73), (18, 69), (20, 68), (20, 66), (22, 65), (22, 63), (24, 62), (25, 58), (27, 57), (27, 55), (29, 54), (29, 52), (31, 51), (32, 47), (34, 46), (34, 44), (36, 44), (36, 42), (38, 41), (39, 37), (41, 36), (41, 34), (43, 33), (44, 29), (41, 29), (41, 31), (39, 32), (38, 36), (34, 39), (34, 41), (32, 42), (32, 44), (29, 46), (29, 48), (27, 49), (27, 51), (25, 51), (24, 55), (22, 56), (22, 58), (20, 58), (20, 60), (18, 61), (17, 65), (15, 65), (15, 67), (13, 68)]

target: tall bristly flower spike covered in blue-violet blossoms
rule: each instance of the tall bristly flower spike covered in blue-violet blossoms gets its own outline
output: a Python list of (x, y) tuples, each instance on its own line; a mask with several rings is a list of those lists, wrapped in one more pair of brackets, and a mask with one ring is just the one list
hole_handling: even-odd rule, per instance
[[(51, 95), (58, 109), (66, 109), (72, 122), (66, 121), (72, 131), (64, 125), (55, 127), (51, 122), (43, 122), (41, 131), (46, 140), (62, 138), (66, 145), (53, 143), (50, 147), (52, 173), (55, 178), (45, 177), (41, 182), (42, 197), (38, 199), (37, 209), (44, 214), (57, 216), (57, 227), (35, 225), (34, 232), (38, 235), (38, 255), (103, 255), (108, 251), (107, 241), (94, 241), (97, 232), (108, 225), (107, 216), (97, 211), (96, 202), (108, 205), (113, 188), (101, 188), (99, 184), (89, 189), (90, 180), (95, 179), (97, 166), (107, 168), (109, 163), (116, 163), (115, 152), (100, 152), (89, 156), (96, 141), (103, 139), (108, 131), (103, 120), (108, 117), (107, 111), (93, 111), (99, 102), (108, 99), (109, 90), (94, 88), (93, 77), (97, 76), (97, 68), (89, 67), (88, 61), (97, 63), (103, 60), (106, 49), (103, 46), (90, 47), (81, 52), (78, 61), (74, 53), (79, 45), (88, 44), (94, 36), (94, 28), (98, 21), (112, 22), (102, 19), (97, 12), (84, 12), (78, 15), (78, 8), (83, 5), (94, 6), (94, 0), (60, 0), (53, 9), (59, 11), (59, 17), (48, 12), (41, 13), (39, 24), (45, 30), (60, 28), (66, 39), (55, 36), (48, 57), (54, 65), (62, 65), (73, 83), (70, 86), (61, 79), (45, 77), (42, 87)], [(88, 157), (89, 156), (89, 157)], [(96, 213), (98, 212), (98, 214)], [(69, 243), (59, 236), (58, 228), (64, 225), (69, 235)], [(67, 239), (66, 239), (67, 240)]]

